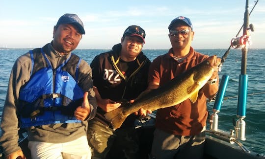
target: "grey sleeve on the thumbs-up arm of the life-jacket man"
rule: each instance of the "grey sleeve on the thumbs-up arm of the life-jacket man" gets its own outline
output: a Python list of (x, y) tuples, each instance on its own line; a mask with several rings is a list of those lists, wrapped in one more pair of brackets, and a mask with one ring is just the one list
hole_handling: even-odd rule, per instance
[(88, 91), (90, 114), (87, 120), (91, 120), (96, 115), (98, 105), (95, 92), (93, 91), (92, 70), (84, 60), (81, 61), (79, 66), (79, 86), (83, 91)]

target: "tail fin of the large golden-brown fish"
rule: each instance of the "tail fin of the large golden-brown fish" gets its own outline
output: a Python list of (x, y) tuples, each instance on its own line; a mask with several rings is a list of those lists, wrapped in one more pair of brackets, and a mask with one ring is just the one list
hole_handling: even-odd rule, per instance
[(107, 112), (105, 115), (106, 119), (110, 121), (113, 130), (116, 130), (121, 127), (122, 123), (126, 119), (126, 115), (123, 112), (124, 108), (117, 108), (111, 112)]

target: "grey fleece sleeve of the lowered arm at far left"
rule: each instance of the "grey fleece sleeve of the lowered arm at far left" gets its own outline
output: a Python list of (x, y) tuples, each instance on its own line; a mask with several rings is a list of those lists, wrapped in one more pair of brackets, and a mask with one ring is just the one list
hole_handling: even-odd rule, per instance
[(20, 150), (18, 146), (18, 131), (19, 131), (19, 90), (24, 85), (29, 77), (31, 71), (30, 55), (27, 53), (19, 57), (10, 74), (7, 95), (3, 107), (1, 119), (1, 136), (0, 142), (3, 152), (6, 156)]

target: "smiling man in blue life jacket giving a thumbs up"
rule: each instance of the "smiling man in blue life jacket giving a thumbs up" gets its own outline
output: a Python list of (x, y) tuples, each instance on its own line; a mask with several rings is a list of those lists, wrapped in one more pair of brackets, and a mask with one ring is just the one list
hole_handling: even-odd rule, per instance
[(76, 14), (64, 14), (53, 41), (20, 56), (11, 71), (0, 136), (6, 158), (26, 156), (18, 131), (27, 129), (33, 159), (90, 159), (88, 120), (96, 114), (89, 65), (71, 53), (85, 34)]

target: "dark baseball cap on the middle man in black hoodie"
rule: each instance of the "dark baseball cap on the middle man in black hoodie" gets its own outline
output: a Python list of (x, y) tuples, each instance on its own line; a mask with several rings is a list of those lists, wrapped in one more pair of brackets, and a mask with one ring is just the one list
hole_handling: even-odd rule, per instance
[(145, 31), (143, 28), (141, 28), (140, 26), (138, 25), (131, 25), (129, 26), (123, 33), (123, 37), (125, 36), (138, 36), (140, 38), (142, 38), (143, 42), (145, 43), (144, 41), (144, 38), (145, 38)]

